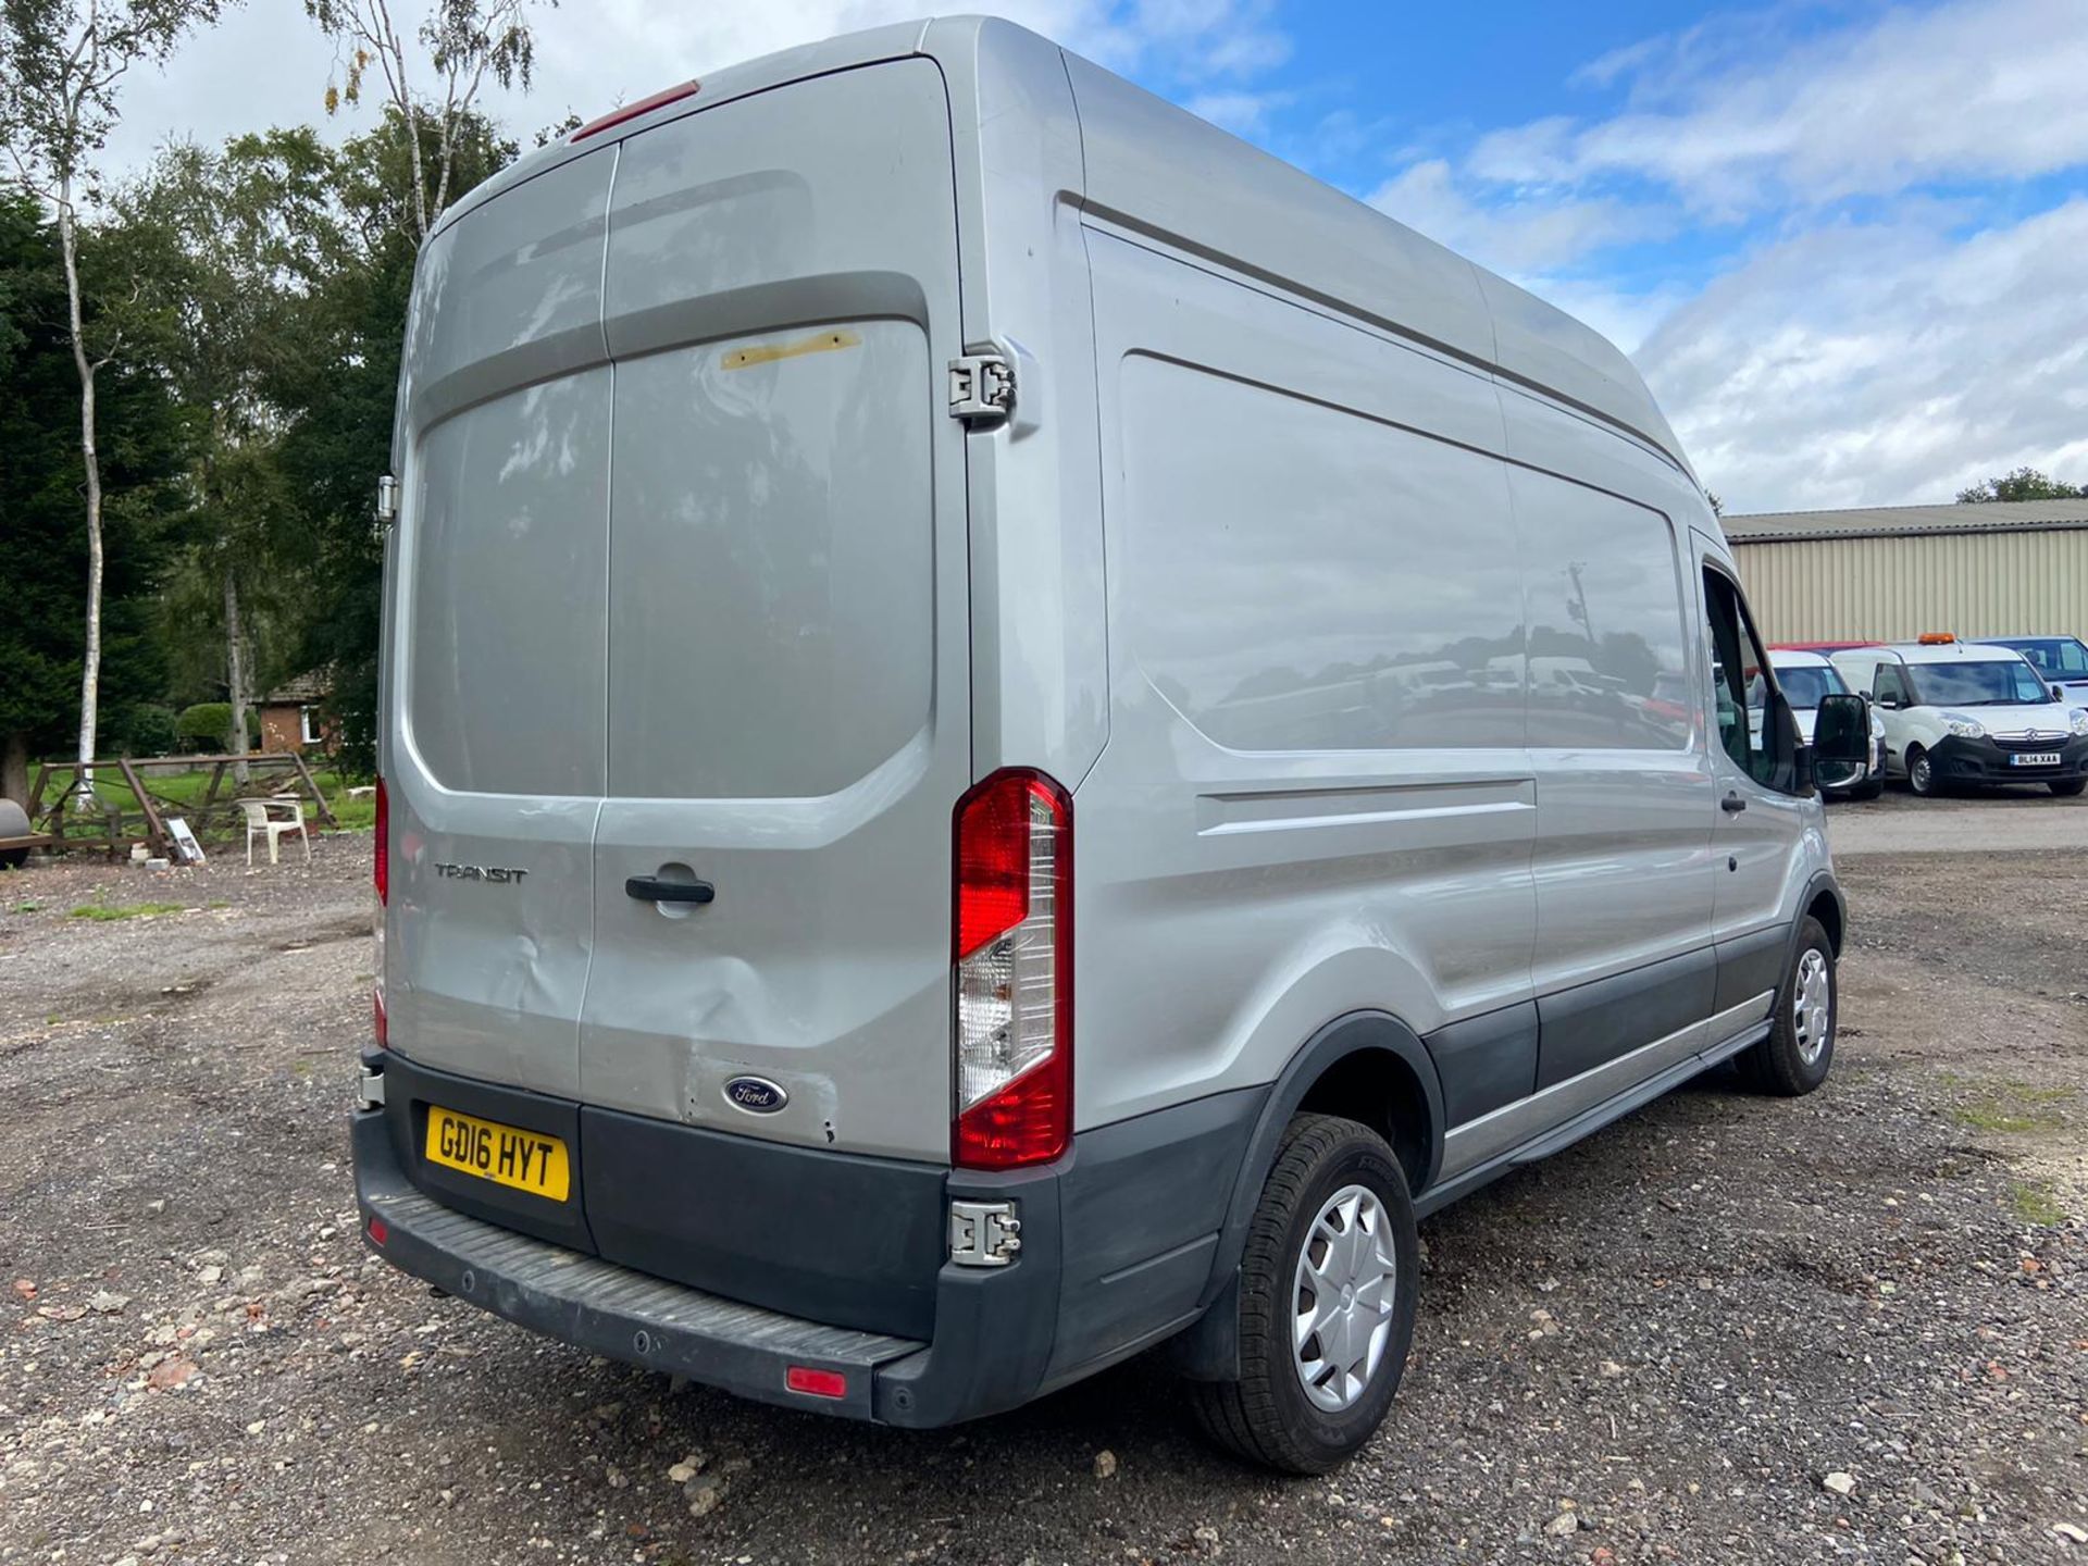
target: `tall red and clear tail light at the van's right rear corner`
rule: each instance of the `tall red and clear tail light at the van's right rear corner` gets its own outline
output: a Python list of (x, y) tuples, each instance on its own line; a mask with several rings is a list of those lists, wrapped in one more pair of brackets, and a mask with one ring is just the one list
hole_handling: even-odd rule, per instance
[(994, 773), (956, 804), (956, 1119), (967, 1169), (1046, 1163), (1073, 1136), (1073, 800)]

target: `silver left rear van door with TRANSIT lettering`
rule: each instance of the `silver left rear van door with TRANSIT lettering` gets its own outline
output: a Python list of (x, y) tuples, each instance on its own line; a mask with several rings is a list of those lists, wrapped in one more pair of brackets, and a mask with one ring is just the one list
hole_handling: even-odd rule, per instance
[(614, 148), (589, 152), (430, 238), (388, 547), (390, 1040), (555, 1098), (580, 1088), (608, 777), (614, 165)]

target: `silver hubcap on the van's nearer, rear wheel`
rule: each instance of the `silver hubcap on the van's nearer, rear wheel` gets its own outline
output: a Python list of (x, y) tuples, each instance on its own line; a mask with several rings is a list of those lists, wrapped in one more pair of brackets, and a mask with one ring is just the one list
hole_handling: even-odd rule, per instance
[(1290, 1297), (1299, 1380), (1328, 1414), (1355, 1403), (1384, 1359), (1397, 1276), (1391, 1224), (1376, 1194), (1343, 1186), (1328, 1196), (1305, 1234)]

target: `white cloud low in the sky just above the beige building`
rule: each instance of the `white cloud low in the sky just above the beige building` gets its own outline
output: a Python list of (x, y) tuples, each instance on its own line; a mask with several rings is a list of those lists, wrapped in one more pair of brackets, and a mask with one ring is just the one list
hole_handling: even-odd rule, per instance
[(1946, 499), (2088, 470), (2088, 196), (1954, 238), (1933, 213), (1769, 244), (1639, 367), (1731, 509)]

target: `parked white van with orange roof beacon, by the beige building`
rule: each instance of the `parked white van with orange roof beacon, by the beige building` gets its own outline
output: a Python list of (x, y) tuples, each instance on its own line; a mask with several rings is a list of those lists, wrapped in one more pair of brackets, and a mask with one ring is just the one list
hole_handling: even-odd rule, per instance
[(1885, 718), (1885, 768), (1919, 796), (1952, 783), (2088, 789), (2088, 712), (2007, 647), (1923, 637), (1833, 656)]

